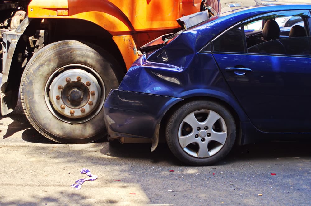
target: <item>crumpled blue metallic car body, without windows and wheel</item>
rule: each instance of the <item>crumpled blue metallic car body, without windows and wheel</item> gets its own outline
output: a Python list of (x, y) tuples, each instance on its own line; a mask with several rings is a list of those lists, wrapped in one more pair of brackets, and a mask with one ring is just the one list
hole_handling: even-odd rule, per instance
[[(311, 89), (308, 82), (311, 73), (308, 72), (302, 81), (296, 75), (308, 68), (309, 59), (269, 56), (270, 60), (264, 62), (263, 56), (259, 55), (200, 52), (214, 37), (238, 22), (263, 13), (287, 9), (311, 10), (311, 5), (255, 7), (241, 9), (238, 15), (234, 11), (226, 12), (220, 18), (185, 30), (163, 48), (137, 59), (118, 90), (113, 90), (105, 102), (105, 121), (109, 133), (125, 137), (152, 138), (156, 124), (160, 123), (165, 112), (174, 104), (183, 99), (204, 96), (219, 99), (234, 109), (242, 130), (241, 144), (262, 139), (263, 136), (275, 136), (281, 134), (281, 131), (289, 131), (283, 130), (286, 127), (294, 126), (295, 130), (289, 133), (295, 133), (301, 131), (299, 129), (302, 127), (310, 125), (311, 120), (308, 117), (311, 110), (305, 109), (311, 98), (309, 93), (306, 93)], [(293, 61), (304, 66), (297, 68), (293, 65)], [(251, 67), (252, 62), (256, 62), (256, 67)], [(275, 64), (279, 64), (274, 67), (276, 73), (271, 74), (269, 68)], [(230, 72), (225, 71), (225, 68), (237, 65), (243, 65), (252, 71), (235, 76), (232, 76), (233, 72), (229, 74)], [(275, 71), (280, 68), (285, 70)], [(291, 82), (293, 77), (295, 80)], [(272, 83), (272, 79), (277, 81)], [(250, 83), (250, 86), (244, 86), (245, 83)], [(278, 93), (278, 88), (285, 83), (288, 84), (287, 90)], [(306, 87), (302, 87), (304, 85)], [(262, 87), (264, 90), (260, 90)], [(299, 88), (304, 90), (299, 91)], [(299, 98), (298, 94), (301, 95)], [(292, 108), (294, 101), (298, 101), (303, 107)], [(263, 106), (268, 103), (271, 107), (263, 111)], [(258, 129), (251, 123), (245, 111)], [(299, 114), (293, 114), (292, 111), (298, 111)], [(299, 120), (304, 111), (306, 111), (305, 118)], [(264, 113), (272, 115), (267, 118)], [(254, 118), (256, 115), (259, 115), (259, 118)], [(282, 124), (281, 121), (272, 124), (272, 119), (277, 121), (281, 118), (285, 118), (287, 124)], [(305, 130), (303, 135), (309, 134), (310, 131)]]

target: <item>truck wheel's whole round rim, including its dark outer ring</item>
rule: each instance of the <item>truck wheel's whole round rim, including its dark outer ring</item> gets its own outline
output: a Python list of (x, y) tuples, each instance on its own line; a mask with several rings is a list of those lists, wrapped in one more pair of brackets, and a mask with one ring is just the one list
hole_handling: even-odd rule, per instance
[(89, 66), (70, 64), (57, 69), (45, 86), (49, 111), (67, 123), (83, 123), (102, 109), (105, 86), (99, 74)]

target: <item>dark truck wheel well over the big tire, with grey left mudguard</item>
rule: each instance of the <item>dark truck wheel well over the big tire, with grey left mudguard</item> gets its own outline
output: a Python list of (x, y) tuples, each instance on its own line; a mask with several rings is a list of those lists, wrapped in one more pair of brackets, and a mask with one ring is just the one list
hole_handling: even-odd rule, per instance
[[(6, 65), (3, 65), (1, 93), (3, 93), (4, 96), (1, 97), (1, 115), (7, 115), (12, 112), (17, 104), (21, 76), (32, 54), (29, 54), (28, 59), (26, 60), (23, 59), (20, 61), (19, 58), (27, 52), (26, 48), (30, 47), (28, 38), (35, 35), (37, 30), (51, 30), (45, 45), (61, 40), (79, 40), (86, 43), (96, 44), (102, 49), (108, 50), (109, 53), (114, 56), (121, 66), (120, 73), (124, 75), (127, 71), (123, 55), (121, 54), (118, 45), (115, 43), (113, 36), (107, 30), (91, 21), (81, 19), (46, 20), (47, 23), (44, 25), (45, 20), (43, 19), (28, 19), (27, 17), (16, 31), (10, 34), (14, 35), (14, 37), (18, 36), (19, 39), (16, 42), (16, 45), (7, 42), (7, 48), (12, 46), (11, 49), (14, 49), (14, 52), (12, 52), (10, 57), (8, 56), (8, 58), (11, 58), (10, 64), (7, 63)], [(26, 62), (24, 62), (24, 60)]]

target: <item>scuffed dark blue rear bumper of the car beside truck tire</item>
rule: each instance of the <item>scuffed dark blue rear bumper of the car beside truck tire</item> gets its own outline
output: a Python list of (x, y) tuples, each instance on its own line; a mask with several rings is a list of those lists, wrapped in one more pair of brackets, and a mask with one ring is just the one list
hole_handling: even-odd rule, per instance
[(110, 139), (136, 137), (158, 139), (165, 112), (182, 99), (112, 90), (104, 104), (104, 119)]

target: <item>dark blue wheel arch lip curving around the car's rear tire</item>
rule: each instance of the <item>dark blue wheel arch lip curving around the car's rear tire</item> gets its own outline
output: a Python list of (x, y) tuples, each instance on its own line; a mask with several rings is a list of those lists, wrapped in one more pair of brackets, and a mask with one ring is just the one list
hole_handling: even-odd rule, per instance
[(245, 118), (248, 119), (248, 117), (245, 115), (244, 111), (241, 108), (234, 109), (234, 107), (231, 105), (233, 103), (232, 101), (234, 101), (234, 100), (225, 101), (224, 99), (222, 99), (220, 97), (202, 96), (202, 95), (184, 98), (183, 100), (178, 101), (177, 103), (172, 105), (165, 112), (165, 114), (163, 115), (163, 117), (160, 121), (160, 132), (159, 132), (160, 142), (165, 141), (165, 125), (167, 124), (169, 117), (173, 114), (173, 112), (176, 111), (177, 108), (180, 107), (181, 105), (183, 105), (187, 102), (190, 102), (190, 101), (198, 100), (198, 99), (199, 100), (213, 101), (213, 102), (219, 103), (220, 105), (222, 105), (223, 107), (225, 107), (226, 109), (228, 109), (230, 111), (230, 113), (232, 114), (232, 116), (235, 120), (236, 129), (237, 129), (236, 144), (241, 145), (243, 143), (243, 138), (242, 138), (243, 137), (243, 135), (242, 135), (243, 131), (241, 128), (241, 122), (245, 121)]

